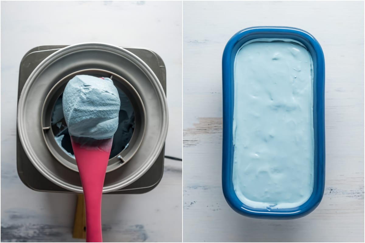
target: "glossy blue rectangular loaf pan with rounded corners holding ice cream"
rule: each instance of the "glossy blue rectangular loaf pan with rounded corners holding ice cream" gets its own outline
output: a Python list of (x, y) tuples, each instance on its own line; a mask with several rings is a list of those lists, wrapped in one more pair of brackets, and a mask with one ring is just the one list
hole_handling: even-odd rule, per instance
[[(239, 48), (258, 38), (286, 38), (302, 43), (313, 60), (313, 125), (314, 125), (314, 187), (310, 198), (295, 208), (262, 209), (243, 204), (233, 188), (233, 106), (234, 61)], [(308, 32), (291, 27), (251, 27), (237, 32), (226, 44), (222, 58), (223, 74), (223, 158), (222, 187), (227, 203), (238, 213), (264, 219), (295, 219), (312, 212), (324, 192), (324, 56), (317, 40)]]

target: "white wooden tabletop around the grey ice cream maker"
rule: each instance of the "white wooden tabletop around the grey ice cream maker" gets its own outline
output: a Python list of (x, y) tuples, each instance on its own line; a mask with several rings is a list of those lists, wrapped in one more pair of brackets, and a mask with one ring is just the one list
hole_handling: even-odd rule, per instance
[[(1, 241), (73, 242), (76, 195), (35, 192), (16, 172), (19, 64), (33, 47), (81, 42), (146, 47), (166, 64), (166, 155), (182, 156), (181, 2), (1, 2)], [(181, 241), (180, 161), (142, 195), (104, 195), (105, 242)], [(77, 240), (84, 241), (84, 240)]]

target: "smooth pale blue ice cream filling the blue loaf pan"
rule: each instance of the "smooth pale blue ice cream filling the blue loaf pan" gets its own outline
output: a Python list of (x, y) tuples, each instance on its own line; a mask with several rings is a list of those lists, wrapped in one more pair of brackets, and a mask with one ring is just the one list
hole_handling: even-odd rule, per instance
[(233, 186), (253, 208), (293, 208), (314, 185), (313, 64), (294, 40), (255, 39), (234, 64)]

